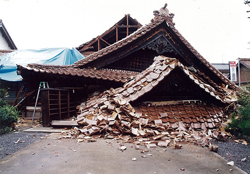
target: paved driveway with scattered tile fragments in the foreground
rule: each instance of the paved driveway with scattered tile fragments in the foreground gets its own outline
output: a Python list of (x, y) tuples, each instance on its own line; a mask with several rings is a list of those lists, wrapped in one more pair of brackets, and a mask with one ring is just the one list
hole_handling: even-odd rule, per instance
[(125, 144), (124, 152), (118, 150), (116, 140), (77, 143), (74, 139), (55, 140), (55, 137), (57, 135), (52, 134), (2, 159), (0, 173), (244, 173), (235, 166), (228, 166), (207, 148), (188, 144), (180, 150), (157, 147), (141, 153), (132, 144)]

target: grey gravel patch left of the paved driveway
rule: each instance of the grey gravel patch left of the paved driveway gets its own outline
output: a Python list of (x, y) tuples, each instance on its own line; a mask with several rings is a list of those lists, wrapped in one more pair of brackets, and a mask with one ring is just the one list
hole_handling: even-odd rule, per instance
[(46, 135), (46, 133), (26, 133), (23, 131), (0, 135), (0, 160)]

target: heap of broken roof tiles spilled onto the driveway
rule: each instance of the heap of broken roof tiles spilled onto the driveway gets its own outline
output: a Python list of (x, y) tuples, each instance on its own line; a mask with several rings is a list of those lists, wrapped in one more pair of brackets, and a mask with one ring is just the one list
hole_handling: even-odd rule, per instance
[[(65, 132), (64, 138), (74, 137), (78, 142), (94, 142), (97, 138), (116, 139), (123, 143), (134, 143), (135, 149), (141, 149), (140, 146), (173, 146), (180, 149), (180, 142), (188, 142), (217, 151), (218, 147), (211, 145), (209, 140), (226, 141), (228, 137), (227, 133), (216, 129), (194, 130), (181, 121), (175, 127), (170, 127), (161, 119), (152, 120), (150, 116), (136, 112), (126, 100), (117, 97), (114, 89), (88, 100), (87, 106), (81, 106), (79, 110), (81, 114), (77, 122), (80, 127)], [(121, 144), (120, 150), (122, 148)]]

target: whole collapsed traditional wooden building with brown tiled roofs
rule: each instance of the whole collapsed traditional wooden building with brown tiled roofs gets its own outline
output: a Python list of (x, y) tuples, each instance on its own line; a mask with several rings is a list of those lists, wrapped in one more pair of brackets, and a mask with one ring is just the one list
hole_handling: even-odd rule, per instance
[(237, 99), (237, 86), (191, 46), (173, 17), (165, 6), (148, 25), (112, 44), (103, 41), (102, 48), (100, 37), (83, 44), (82, 54), (96, 44), (98, 49), (73, 65), (18, 65), (27, 84), (50, 84), (41, 91), (43, 125), (70, 118), (78, 105), (78, 134), (86, 136), (165, 136), (220, 127), (228, 118), (224, 108)]

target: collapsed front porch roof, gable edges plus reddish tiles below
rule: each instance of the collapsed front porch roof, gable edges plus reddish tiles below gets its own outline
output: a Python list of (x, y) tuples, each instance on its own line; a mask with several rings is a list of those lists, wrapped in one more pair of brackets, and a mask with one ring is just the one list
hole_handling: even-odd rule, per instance
[[(218, 127), (228, 118), (223, 108), (212, 103), (203, 103), (197, 100), (143, 102), (133, 107), (129, 103), (151, 91), (166, 78), (175, 68), (180, 68), (196, 85), (222, 103), (230, 103), (235, 99), (235, 91), (204, 83), (198, 72), (190, 71), (177, 59), (158, 56), (154, 63), (138, 74), (123, 87), (110, 89), (99, 96), (90, 98), (86, 106), (81, 107), (78, 123), (89, 117), (116, 117), (119, 115), (121, 123), (131, 122), (130, 117), (139, 124), (148, 127), (163, 126), (165, 128), (193, 128), (203, 129)], [(112, 113), (112, 116), (110, 115)], [(101, 116), (100, 116), (101, 115)], [(136, 123), (136, 122), (134, 122)], [(130, 123), (129, 123), (130, 124)], [(133, 122), (131, 123), (133, 124)]]

